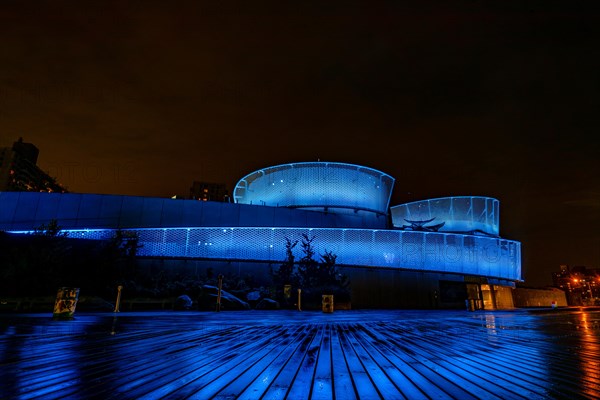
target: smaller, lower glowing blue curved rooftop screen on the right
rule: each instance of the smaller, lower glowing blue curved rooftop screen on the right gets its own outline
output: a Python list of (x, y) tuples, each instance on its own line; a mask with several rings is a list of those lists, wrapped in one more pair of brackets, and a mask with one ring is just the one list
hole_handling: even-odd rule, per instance
[(390, 208), (395, 228), (498, 236), (500, 202), (491, 197), (441, 197)]

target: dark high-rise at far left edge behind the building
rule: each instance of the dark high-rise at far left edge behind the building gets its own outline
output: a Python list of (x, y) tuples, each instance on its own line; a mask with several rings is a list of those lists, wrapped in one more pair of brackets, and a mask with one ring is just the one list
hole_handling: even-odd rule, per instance
[(67, 190), (37, 166), (38, 148), (19, 138), (0, 148), (0, 191), (60, 192)]

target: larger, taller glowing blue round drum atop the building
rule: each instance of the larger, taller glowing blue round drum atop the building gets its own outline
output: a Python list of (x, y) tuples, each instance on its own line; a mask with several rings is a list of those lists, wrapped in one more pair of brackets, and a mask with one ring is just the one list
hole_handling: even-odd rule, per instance
[(236, 203), (386, 214), (394, 178), (354, 164), (304, 162), (252, 172), (236, 184)]

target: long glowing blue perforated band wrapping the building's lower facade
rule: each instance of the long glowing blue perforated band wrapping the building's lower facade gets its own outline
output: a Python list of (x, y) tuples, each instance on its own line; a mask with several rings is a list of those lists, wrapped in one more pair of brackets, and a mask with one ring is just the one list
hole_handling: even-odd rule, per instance
[[(333, 251), (340, 265), (521, 280), (520, 243), (484, 236), (435, 232), (331, 228), (165, 228), (132, 230), (140, 256), (280, 262), (285, 238), (314, 236), (318, 253)], [(69, 231), (69, 236), (103, 239), (113, 230)], [(299, 246), (296, 257), (300, 258)]]

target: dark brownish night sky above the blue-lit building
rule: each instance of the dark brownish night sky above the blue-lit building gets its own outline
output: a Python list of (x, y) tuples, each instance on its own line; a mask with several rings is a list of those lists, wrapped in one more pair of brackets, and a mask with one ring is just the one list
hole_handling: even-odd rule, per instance
[(2, 0), (0, 146), (73, 192), (321, 160), (392, 175), (392, 205), (495, 197), (546, 285), (600, 268), (594, 3)]

